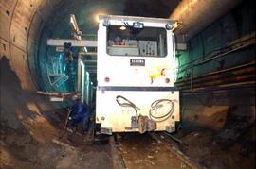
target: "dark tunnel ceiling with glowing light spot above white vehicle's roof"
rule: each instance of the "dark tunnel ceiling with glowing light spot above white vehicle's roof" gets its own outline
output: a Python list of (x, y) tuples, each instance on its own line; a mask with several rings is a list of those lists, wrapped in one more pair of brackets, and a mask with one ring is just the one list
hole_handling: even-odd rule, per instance
[(84, 34), (96, 34), (98, 25), (95, 18), (98, 14), (168, 18), (177, 6), (178, 0), (77, 0), (64, 1), (61, 4), (48, 20), (48, 25), (55, 27), (55, 37), (68, 36), (70, 14), (76, 15), (78, 25)]

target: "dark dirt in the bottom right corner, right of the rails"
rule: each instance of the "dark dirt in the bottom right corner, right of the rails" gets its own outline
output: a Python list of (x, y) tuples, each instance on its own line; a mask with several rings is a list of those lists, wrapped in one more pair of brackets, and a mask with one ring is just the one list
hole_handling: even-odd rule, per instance
[[(180, 133), (181, 134), (181, 133)], [(210, 130), (193, 131), (181, 138), (180, 149), (206, 168), (255, 168), (255, 126), (236, 141), (220, 141)]]

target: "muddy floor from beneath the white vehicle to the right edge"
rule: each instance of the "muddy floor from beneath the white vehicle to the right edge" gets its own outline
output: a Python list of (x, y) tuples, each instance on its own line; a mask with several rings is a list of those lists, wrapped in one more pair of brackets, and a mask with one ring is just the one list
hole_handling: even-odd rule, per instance
[[(221, 132), (207, 129), (172, 134), (181, 144), (163, 132), (122, 133), (117, 135), (125, 167), (134, 168), (255, 168), (255, 125), (235, 140)], [(155, 137), (152, 137), (155, 136)], [(156, 138), (156, 139), (155, 139)], [(171, 141), (171, 142), (170, 142)], [(169, 144), (167, 144), (169, 143)], [(177, 157), (175, 150), (184, 155)], [(186, 159), (189, 161), (186, 162)]]

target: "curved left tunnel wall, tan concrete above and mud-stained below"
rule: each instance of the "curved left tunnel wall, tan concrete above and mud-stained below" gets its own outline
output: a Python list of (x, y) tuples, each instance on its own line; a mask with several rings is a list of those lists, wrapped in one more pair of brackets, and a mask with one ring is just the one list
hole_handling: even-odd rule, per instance
[[(59, 1), (0, 1), (1, 127), (26, 128), (35, 139), (51, 138), (46, 120), (60, 104), (38, 95), (38, 48), (46, 20)], [(39, 76), (40, 78), (40, 76)], [(40, 127), (46, 127), (43, 132)], [(47, 137), (46, 137), (47, 135)]]

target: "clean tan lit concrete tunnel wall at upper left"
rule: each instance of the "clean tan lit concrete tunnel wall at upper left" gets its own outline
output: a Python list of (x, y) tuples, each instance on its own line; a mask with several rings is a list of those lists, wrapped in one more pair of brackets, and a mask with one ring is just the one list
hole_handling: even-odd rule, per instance
[(25, 89), (38, 87), (33, 75), (38, 69), (39, 42), (56, 4), (58, 1), (1, 1), (1, 58), (10, 60)]

